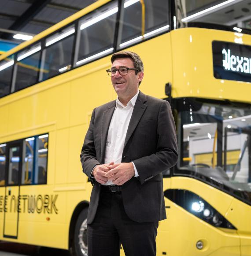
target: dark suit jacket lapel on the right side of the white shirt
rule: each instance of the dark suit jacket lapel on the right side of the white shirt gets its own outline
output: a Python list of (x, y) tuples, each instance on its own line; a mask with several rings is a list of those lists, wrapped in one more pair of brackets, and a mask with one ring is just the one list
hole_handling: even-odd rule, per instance
[(146, 102), (146, 101), (147, 101), (146, 95), (140, 91), (137, 101), (134, 105), (133, 114), (132, 114), (131, 120), (129, 122), (127, 132), (126, 132), (124, 148), (125, 148), (126, 144), (128, 143), (130, 137), (132, 136), (135, 128), (137, 127), (137, 125), (140, 121), (140, 118), (142, 117), (142, 115), (144, 114), (144, 112), (147, 108), (147, 105), (144, 104), (144, 102)]

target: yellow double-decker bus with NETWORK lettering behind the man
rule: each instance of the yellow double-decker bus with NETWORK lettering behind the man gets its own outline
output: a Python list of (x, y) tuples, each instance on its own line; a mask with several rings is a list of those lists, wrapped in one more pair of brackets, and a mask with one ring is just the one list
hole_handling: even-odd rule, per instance
[(88, 255), (79, 154), (92, 109), (116, 97), (111, 54), (128, 49), (177, 126), (157, 255), (251, 256), (250, 9), (99, 0), (0, 56), (0, 240)]

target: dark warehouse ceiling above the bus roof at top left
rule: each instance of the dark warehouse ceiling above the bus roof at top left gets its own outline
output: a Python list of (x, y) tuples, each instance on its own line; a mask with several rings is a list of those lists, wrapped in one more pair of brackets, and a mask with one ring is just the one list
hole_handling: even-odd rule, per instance
[(0, 39), (22, 42), (14, 34), (36, 35), (96, 0), (0, 0)]

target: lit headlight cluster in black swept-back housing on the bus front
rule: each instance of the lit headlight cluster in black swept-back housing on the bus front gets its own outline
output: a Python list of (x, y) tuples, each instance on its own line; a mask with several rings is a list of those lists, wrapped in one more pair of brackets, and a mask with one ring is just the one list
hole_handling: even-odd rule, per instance
[(173, 201), (173, 203), (176, 203), (212, 226), (236, 230), (236, 227), (214, 209), (214, 207), (191, 191), (167, 189), (164, 195)]

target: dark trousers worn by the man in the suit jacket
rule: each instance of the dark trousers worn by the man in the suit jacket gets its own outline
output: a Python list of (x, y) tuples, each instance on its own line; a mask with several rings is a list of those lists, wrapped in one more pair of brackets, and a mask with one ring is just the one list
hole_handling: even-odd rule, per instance
[(101, 191), (97, 213), (88, 225), (88, 256), (155, 256), (158, 222), (134, 222), (125, 213), (122, 194)]

